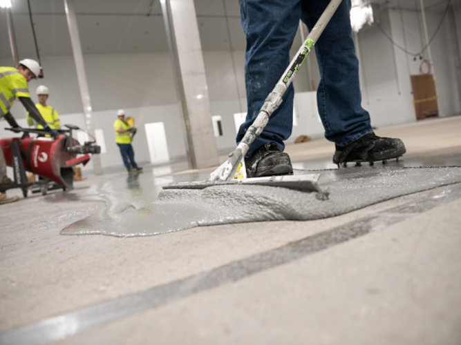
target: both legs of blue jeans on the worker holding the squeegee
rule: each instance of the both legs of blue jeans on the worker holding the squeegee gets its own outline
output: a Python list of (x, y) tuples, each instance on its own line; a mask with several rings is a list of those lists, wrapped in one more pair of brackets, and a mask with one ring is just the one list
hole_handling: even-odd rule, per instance
[[(309, 30), (328, 5), (328, 0), (239, 0), (241, 21), (247, 38), (245, 85), (247, 118), (237, 133), (241, 141), (258, 115), (264, 100), (290, 63), (290, 47), (301, 19)], [(317, 89), (319, 115), (325, 137), (338, 146), (373, 132), (370, 115), (361, 108), (359, 63), (350, 27), (350, 0), (343, 0), (315, 44), (321, 81)], [(309, 57), (308, 57), (309, 59)], [(301, 71), (303, 68), (301, 67)], [(281, 106), (256, 137), (247, 153), (268, 141), (283, 150), (292, 133), (294, 89), (283, 95)]]

